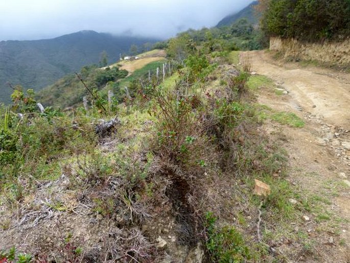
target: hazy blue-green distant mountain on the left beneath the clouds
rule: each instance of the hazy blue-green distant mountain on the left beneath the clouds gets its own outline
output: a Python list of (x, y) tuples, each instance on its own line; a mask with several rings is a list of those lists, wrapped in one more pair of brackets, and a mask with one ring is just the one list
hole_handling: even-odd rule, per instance
[(80, 31), (53, 39), (0, 42), (0, 103), (9, 102), (12, 85), (38, 91), (84, 65), (99, 63), (107, 52), (108, 62), (128, 53), (131, 45), (142, 46), (158, 39), (113, 36), (95, 31)]

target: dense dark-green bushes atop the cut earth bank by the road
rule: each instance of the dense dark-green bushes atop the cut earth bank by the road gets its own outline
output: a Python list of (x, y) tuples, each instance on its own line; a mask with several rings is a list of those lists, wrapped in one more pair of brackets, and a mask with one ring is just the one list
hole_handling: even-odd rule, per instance
[(349, 0), (261, 0), (267, 35), (317, 41), (350, 36)]

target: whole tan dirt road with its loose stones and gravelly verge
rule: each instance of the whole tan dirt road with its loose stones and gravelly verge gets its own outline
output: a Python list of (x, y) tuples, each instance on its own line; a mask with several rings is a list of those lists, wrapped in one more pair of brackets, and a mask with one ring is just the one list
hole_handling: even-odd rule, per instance
[(283, 146), (291, 166), (289, 180), (310, 196), (322, 196), (328, 202), (322, 211), (330, 218), (312, 219), (305, 225), (315, 242), (313, 255), (306, 253), (295, 262), (350, 262), (350, 74), (302, 67), (299, 63), (278, 64), (264, 51), (241, 56), (251, 59), (252, 72), (271, 78), (288, 91), (276, 95), (261, 87), (258, 102), (275, 111), (295, 113), (305, 121), (305, 127), (273, 122), (264, 127), (271, 139), (281, 134), (285, 138)]

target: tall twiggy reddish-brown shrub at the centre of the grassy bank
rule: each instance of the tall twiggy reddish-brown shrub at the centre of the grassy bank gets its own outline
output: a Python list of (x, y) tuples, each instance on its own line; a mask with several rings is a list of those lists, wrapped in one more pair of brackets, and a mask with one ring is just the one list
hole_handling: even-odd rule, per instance
[(198, 175), (209, 160), (211, 142), (204, 131), (201, 103), (195, 96), (179, 93), (156, 97), (155, 115), (159, 120), (155, 151), (164, 160), (177, 165), (186, 176)]

